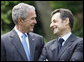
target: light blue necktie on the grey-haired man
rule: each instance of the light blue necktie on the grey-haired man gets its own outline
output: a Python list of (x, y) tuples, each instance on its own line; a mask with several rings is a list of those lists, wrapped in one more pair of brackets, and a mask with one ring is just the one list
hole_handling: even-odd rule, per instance
[(22, 36), (22, 45), (23, 45), (25, 53), (27, 55), (27, 59), (28, 59), (28, 61), (30, 61), (30, 54), (29, 54), (27, 43), (26, 43), (26, 37), (27, 37), (27, 35), (23, 34), (23, 36)]

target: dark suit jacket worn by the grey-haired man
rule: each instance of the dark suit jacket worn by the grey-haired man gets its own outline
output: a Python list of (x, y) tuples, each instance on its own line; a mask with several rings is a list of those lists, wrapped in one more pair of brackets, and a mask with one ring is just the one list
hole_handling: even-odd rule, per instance
[[(31, 61), (38, 60), (44, 46), (43, 37), (28, 33)], [(1, 36), (1, 61), (27, 61), (22, 43), (13, 29), (9, 33)]]

